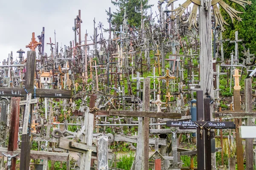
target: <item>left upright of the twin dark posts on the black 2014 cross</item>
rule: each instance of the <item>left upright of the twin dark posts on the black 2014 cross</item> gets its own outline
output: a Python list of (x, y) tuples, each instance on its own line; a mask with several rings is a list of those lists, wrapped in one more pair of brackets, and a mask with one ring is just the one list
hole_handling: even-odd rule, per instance
[[(204, 93), (203, 91), (196, 91), (196, 107), (197, 107), (197, 121), (204, 120)], [(200, 128), (197, 128), (197, 157), (198, 170), (205, 170), (204, 165), (204, 138), (201, 138)]]

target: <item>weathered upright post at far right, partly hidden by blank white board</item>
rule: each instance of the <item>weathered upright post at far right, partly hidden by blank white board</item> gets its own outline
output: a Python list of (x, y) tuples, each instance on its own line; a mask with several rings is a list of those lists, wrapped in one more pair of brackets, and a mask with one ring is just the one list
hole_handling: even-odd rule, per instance
[[(245, 112), (252, 112), (252, 79), (244, 79)], [(246, 126), (252, 126), (253, 119), (248, 118)], [(253, 170), (253, 138), (245, 139), (246, 170)]]

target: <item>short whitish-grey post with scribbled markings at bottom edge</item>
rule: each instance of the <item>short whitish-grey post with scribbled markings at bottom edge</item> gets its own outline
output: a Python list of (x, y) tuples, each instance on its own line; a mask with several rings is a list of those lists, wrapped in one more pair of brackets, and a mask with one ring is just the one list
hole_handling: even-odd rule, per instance
[(108, 137), (97, 137), (97, 169), (108, 170)]

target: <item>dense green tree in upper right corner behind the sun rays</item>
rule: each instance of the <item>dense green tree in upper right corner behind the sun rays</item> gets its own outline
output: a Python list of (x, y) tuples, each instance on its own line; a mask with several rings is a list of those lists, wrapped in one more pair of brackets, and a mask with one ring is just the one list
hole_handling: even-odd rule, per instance
[[(229, 0), (224, 0), (225, 3), (236, 9), (237, 11), (244, 12), (243, 14), (239, 14), (239, 17), (242, 18), (242, 21), (238, 20), (233, 21), (230, 19), (230, 16), (224, 9), (221, 9), (221, 14), (226, 22), (230, 26), (225, 26), (225, 31), (223, 36), (225, 39), (235, 40), (235, 32), (238, 31), (238, 38), (243, 39), (243, 42), (239, 42), (239, 58), (243, 57), (241, 53), (244, 51), (244, 44), (246, 50), (250, 48), (250, 54), (256, 54), (256, 0), (252, 0), (252, 4), (246, 5), (245, 9), (237, 3), (232, 3)], [(224, 54), (225, 58), (230, 58), (230, 53), (235, 49), (235, 45), (226, 42), (224, 44)]]

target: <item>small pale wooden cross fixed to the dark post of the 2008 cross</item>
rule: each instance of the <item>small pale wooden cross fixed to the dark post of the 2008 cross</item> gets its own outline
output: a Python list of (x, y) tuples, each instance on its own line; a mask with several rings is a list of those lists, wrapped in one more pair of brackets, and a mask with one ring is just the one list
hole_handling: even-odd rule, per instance
[(20, 101), (20, 105), (26, 105), (25, 112), (24, 112), (24, 119), (23, 119), (23, 127), (22, 127), (22, 134), (28, 134), (28, 127), (29, 127), (29, 115), (30, 115), (30, 105), (38, 103), (38, 99), (31, 99), (32, 94), (28, 93), (26, 100)]

